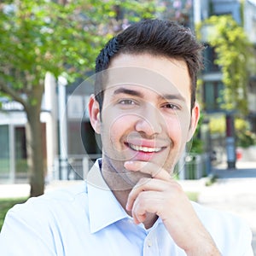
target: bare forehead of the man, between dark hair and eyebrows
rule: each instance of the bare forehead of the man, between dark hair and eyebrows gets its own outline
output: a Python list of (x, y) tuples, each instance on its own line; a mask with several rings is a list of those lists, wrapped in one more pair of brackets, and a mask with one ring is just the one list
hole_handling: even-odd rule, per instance
[(113, 58), (105, 72), (105, 90), (133, 85), (163, 96), (180, 94), (190, 101), (190, 78), (185, 61), (148, 54), (121, 54)]

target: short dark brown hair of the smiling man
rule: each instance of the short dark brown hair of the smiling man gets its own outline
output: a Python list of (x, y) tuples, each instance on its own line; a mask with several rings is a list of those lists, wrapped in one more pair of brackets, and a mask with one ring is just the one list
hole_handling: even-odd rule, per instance
[[(200, 44), (189, 28), (170, 20), (143, 20), (108, 41), (96, 58), (96, 73), (108, 69), (110, 61), (119, 54), (161, 55), (184, 60), (191, 79), (191, 109), (195, 105), (197, 73), (203, 67)], [(96, 83), (96, 101), (102, 109), (103, 84)]]

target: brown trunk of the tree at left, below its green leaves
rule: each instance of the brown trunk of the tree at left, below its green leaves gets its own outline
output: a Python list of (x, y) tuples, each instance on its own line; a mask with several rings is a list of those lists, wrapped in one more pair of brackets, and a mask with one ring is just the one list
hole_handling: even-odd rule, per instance
[(40, 121), (41, 104), (38, 105), (26, 108), (26, 149), (31, 197), (44, 194), (43, 129)]

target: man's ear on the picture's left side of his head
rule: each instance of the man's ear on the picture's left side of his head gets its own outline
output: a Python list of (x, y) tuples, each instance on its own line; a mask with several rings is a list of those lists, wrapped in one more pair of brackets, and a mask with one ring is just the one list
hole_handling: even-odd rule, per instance
[(95, 96), (91, 95), (89, 104), (89, 116), (90, 116), (90, 125), (93, 127), (96, 133), (101, 133), (101, 116), (100, 116), (100, 106), (99, 102), (96, 101)]

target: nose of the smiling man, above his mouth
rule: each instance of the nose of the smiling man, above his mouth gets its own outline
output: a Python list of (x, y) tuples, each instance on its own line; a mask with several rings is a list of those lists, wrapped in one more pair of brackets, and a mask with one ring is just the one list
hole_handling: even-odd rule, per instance
[(135, 125), (136, 131), (143, 132), (148, 137), (162, 132), (163, 117), (160, 111), (154, 106), (147, 104), (139, 114)]

